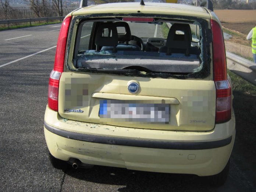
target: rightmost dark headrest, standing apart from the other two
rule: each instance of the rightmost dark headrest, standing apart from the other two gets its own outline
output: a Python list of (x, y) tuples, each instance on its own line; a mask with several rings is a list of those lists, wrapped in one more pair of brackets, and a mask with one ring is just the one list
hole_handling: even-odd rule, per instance
[[(178, 34), (177, 31), (182, 31), (184, 34)], [(189, 24), (173, 24), (167, 36), (167, 55), (171, 55), (171, 52), (175, 49), (185, 49), (185, 55), (189, 56), (191, 40), (192, 36)]]

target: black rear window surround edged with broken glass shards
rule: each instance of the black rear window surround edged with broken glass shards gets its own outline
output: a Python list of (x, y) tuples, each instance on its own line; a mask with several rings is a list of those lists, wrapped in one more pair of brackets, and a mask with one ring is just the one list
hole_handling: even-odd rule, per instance
[[(78, 26), (84, 21), (95, 21), (95, 20), (104, 20), (104, 19), (114, 19), (114, 18), (122, 18), (122, 17), (153, 17), (153, 18), (161, 18), (162, 20), (168, 21), (186, 21), (192, 22), (193, 24), (199, 25), (200, 28), (200, 48), (201, 53), (199, 55), (200, 66), (194, 70), (194, 72), (189, 74), (177, 74), (172, 72), (152, 72), (149, 74), (125, 74), (125, 76), (132, 77), (151, 77), (151, 78), (178, 78), (178, 79), (187, 79), (187, 78), (206, 78), (210, 75), (210, 43), (212, 41), (211, 29), (208, 28), (208, 22), (203, 18), (197, 17), (189, 17), (182, 15), (161, 15), (161, 14), (92, 14), (92, 15), (83, 15), (83, 16), (75, 16), (72, 19), (71, 27), (70, 27), (70, 35), (68, 38), (67, 44), (67, 54), (66, 54), (66, 67), (70, 71), (81, 71), (77, 68), (71, 68), (68, 64), (68, 57), (70, 56), (71, 49), (71, 37), (73, 36), (73, 28), (76, 24), (76, 20), (79, 20)], [(77, 27), (78, 27), (77, 26)], [(78, 30), (76, 30), (75, 39), (77, 39)], [(74, 42), (76, 46), (76, 42)], [(74, 47), (75, 50), (75, 47)], [(74, 55), (72, 54), (72, 58)], [(73, 65), (74, 66), (74, 65)], [(99, 71), (88, 71), (92, 73), (103, 73), (103, 74), (118, 74), (117, 72), (99, 72)], [(124, 75), (124, 74), (119, 74)]]

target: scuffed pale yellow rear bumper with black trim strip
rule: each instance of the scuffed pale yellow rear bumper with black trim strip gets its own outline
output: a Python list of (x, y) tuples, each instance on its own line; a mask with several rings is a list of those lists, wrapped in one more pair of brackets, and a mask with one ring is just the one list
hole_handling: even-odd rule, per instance
[(235, 122), (232, 118), (210, 132), (134, 129), (68, 122), (47, 107), (45, 138), (51, 154), (65, 161), (73, 157), (87, 164), (206, 176), (225, 167)]

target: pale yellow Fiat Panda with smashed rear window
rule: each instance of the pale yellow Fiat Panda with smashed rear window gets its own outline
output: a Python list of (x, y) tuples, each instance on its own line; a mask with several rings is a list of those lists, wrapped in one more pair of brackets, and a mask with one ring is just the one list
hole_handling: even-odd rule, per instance
[(211, 1), (85, 4), (65, 17), (50, 74), (44, 131), (53, 166), (223, 184), (235, 117)]

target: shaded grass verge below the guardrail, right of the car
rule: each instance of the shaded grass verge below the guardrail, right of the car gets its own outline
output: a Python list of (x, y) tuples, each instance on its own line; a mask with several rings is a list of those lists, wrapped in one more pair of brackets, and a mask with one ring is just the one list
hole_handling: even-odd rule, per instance
[(234, 95), (236, 140), (243, 143), (243, 147), (249, 150), (251, 157), (255, 157), (256, 86), (231, 71), (228, 71), (228, 74), (232, 81)]

